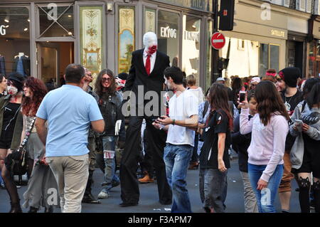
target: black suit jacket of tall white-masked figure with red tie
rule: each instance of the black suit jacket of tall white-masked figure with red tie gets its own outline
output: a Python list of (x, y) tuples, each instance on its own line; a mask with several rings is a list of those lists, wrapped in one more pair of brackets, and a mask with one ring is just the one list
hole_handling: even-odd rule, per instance
[[(129, 76), (126, 81), (124, 91), (131, 90), (137, 98), (138, 102), (138, 86), (143, 86), (145, 95), (148, 91), (155, 91), (159, 94), (163, 90), (164, 85), (164, 70), (169, 67), (169, 56), (160, 51), (156, 51), (156, 62), (154, 63), (154, 69), (151, 71), (150, 75), (146, 73), (146, 68), (144, 67), (144, 58), (143, 58), (144, 48), (132, 52), (132, 65), (129, 70)], [(139, 90), (139, 93), (142, 93), (142, 90)], [(159, 102), (161, 100), (159, 99)], [(144, 104), (149, 102), (145, 100)]]

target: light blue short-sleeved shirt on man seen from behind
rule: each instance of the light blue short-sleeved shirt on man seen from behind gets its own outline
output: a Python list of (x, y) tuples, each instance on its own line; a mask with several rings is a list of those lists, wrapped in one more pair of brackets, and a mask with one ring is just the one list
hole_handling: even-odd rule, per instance
[(50, 91), (36, 116), (48, 121), (46, 157), (87, 154), (90, 122), (103, 119), (95, 98), (73, 85)]

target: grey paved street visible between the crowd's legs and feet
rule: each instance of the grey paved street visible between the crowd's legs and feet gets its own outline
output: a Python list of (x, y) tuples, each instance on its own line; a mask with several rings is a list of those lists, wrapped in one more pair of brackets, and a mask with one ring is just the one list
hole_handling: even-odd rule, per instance
[[(103, 174), (100, 169), (96, 169), (94, 173), (95, 184), (93, 187), (93, 194), (97, 196), (100, 192), (100, 185), (102, 183)], [(191, 198), (192, 210), (195, 213), (203, 213), (201, 206), (200, 196), (198, 192), (198, 170), (188, 170), (187, 176), (188, 192)], [(292, 182), (292, 212), (299, 212), (299, 200), (298, 192), (294, 191), (297, 188), (295, 181)], [(22, 186), (18, 189), (20, 198), (22, 198), (23, 192), (26, 191), (26, 186)], [(139, 206), (131, 207), (119, 207), (121, 203), (120, 199), (120, 187), (112, 189), (112, 194), (109, 199), (102, 199), (102, 204), (82, 204), (82, 212), (86, 213), (166, 213), (166, 208), (171, 206), (163, 206), (158, 202), (158, 192), (156, 189), (156, 183), (140, 184), (140, 201)], [(21, 200), (21, 204), (22, 204)], [(244, 213), (243, 205), (243, 189), (242, 181), (240, 179), (240, 173), (238, 170), (238, 159), (233, 159), (231, 162), (231, 168), (228, 170), (228, 195), (225, 202), (228, 213)], [(276, 201), (277, 211), (279, 212), (279, 199)], [(10, 209), (9, 196), (5, 190), (0, 190), (0, 213), (6, 213)], [(28, 209), (23, 208), (23, 212), (27, 212)], [(40, 211), (40, 212), (43, 212)], [(55, 208), (55, 212), (60, 212), (60, 209)]]

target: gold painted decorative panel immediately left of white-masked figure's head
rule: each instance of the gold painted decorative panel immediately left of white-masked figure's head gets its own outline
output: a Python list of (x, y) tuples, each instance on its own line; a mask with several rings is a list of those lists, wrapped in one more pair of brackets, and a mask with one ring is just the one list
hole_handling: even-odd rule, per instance
[(134, 7), (119, 7), (118, 73), (129, 73), (134, 51)]

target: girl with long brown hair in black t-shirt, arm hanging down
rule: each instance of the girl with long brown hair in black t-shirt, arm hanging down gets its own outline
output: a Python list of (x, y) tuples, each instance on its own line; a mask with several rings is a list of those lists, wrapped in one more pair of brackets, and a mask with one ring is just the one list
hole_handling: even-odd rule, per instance
[(214, 83), (209, 94), (210, 115), (203, 130), (204, 143), (200, 154), (200, 168), (204, 170), (204, 209), (224, 213), (233, 117), (223, 84)]

